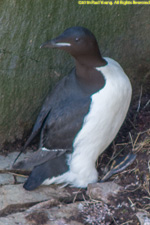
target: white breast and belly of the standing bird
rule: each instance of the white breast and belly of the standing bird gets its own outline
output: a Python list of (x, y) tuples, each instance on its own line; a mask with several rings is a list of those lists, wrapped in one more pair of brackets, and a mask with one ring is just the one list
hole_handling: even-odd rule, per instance
[(108, 64), (95, 68), (105, 78), (105, 86), (91, 97), (91, 107), (82, 129), (77, 134), (69, 156), (70, 170), (59, 176), (57, 183), (67, 182), (86, 187), (97, 181), (95, 162), (118, 133), (129, 108), (132, 88), (121, 66), (110, 58)]

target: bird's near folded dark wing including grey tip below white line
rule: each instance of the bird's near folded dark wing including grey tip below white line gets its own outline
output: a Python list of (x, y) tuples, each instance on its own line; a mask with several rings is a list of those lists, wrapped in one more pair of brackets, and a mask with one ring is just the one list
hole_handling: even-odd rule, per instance
[(31, 158), (18, 162), (13, 168), (32, 170), (47, 161), (53, 163), (65, 153), (71, 153), (73, 141), (82, 128), (90, 102), (90, 97), (80, 99), (68, 97), (64, 102), (56, 102), (42, 127), (39, 150)]

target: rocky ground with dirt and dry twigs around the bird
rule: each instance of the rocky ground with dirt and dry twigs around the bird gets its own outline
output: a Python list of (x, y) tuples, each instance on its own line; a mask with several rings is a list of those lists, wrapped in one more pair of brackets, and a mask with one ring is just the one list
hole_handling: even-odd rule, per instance
[(101, 179), (118, 157), (130, 151), (137, 155), (108, 182), (89, 184), (87, 190), (51, 185), (25, 191), (22, 183), (28, 172), (11, 170), (20, 145), (6, 145), (0, 156), (0, 225), (150, 224), (149, 95), (141, 92), (133, 101), (119, 134), (97, 162)]

